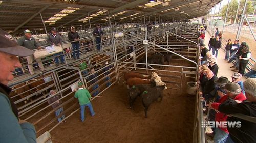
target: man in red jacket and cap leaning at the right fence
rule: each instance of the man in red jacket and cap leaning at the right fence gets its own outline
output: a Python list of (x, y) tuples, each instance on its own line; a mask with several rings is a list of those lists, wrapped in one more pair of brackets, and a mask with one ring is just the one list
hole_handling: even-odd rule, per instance
[[(215, 121), (216, 122), (223, 122), (227, 121), (227, 115), (225, 113), (219, 112), (219, 105), (226, 100), (238, 100), (243, 101), (246, 100), (246, 97), (243, 95), (242, 90), (239, 86), (239, 84), (230, 82), (225, 85), (225, 87), (219, 88), (217, 90), (218, 95), (220, 96), (220, 99), (218, 102), (209, 103), (209, 107), (216, 110), (215, 115)], [(226, 93), (226, 95), (225, 95)], [(215, 143), (221, 143), (225, 142), (228, 137), (228, 130), (227, 128), (217, 127), (215, 129), (215, 135), (214, 135), (214, 142)]]

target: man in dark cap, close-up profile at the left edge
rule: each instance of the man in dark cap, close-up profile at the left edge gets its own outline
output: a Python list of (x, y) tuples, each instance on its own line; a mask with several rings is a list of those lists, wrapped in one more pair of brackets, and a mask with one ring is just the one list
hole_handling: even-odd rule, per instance
[(22, 65), (17, 56), (30, 56), (34, 51), (19, 46), (14, 38), (0, 29), (0, 142), (36, 143), (36, 131), (33, 124), (20, 120), (18, 109), (10, 99), (11, 88), (8, 82), (13, 80), (12, 72)]

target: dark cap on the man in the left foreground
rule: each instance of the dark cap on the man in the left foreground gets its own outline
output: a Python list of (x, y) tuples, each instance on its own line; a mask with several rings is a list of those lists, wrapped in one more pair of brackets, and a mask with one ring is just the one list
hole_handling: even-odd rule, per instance
[(19, 46), (16, 40), (6, 31), (0, 29), (0, 51), (17, 56), (30, 56), (34, 51)]

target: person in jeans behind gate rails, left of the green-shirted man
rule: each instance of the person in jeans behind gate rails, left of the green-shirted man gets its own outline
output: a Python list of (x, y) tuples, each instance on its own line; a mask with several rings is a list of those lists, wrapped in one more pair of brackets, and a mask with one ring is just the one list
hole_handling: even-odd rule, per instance
[[(56, 93), (57, 93), (57, 91), (55, 91), (55, 90), (50, 91), (49, 98), (47, 100), (49, 105), (60, 99), (60, 97), (58, 95), (56, 95)], [(56, 109), (57, 107), (59, 107), (59, 105), (60, 105), (60, 101), (57, 101), (54, 104), (52, 104), (52, 108)], [(63, 107), (60, 107), (57, 110), (55, 110), (56, 117), (59, 116), (63, 112), (64, 112)], [(58, 118), (58, 122), (61, 122), (64, 119), (65, 119), (65, 115), (63, 114), (61, 117)]]

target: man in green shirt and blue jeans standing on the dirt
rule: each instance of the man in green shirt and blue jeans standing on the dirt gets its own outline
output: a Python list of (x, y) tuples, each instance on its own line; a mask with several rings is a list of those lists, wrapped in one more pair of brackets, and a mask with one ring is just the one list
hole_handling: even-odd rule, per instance
[(84, 112), (86, 111), (86, 106), (89, 108), (91, 112), (91, 116), (95, 115), (95, 112), (93, 111), (93, 106), (91, 103), (91, 95), (87, 89), (83, 88), (83, 83), (78, 82), (78, 90), (75, 93), (75, 98), (78, 98), (79, 105), (81, 108), (81, 121), (83, 122), (86, 118), (84, 116)]

